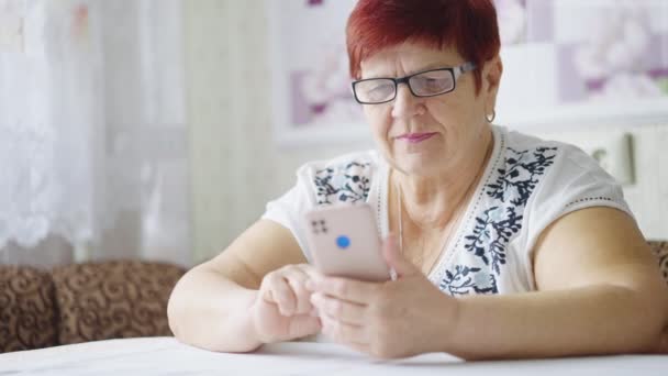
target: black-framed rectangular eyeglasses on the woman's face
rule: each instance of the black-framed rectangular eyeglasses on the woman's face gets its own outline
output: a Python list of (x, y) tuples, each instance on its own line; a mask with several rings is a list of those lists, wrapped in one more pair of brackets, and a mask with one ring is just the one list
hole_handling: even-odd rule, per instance
[(353, 82), (355, 100), (361, 104), (380, 104), (397, 98), (399, 84), (407, 84), (415, 97), (435, 97), (455, 90), (459, 76), (476, 69), (474, 63), (458, 67), (423, 70), (400, 78), (367, 78)]

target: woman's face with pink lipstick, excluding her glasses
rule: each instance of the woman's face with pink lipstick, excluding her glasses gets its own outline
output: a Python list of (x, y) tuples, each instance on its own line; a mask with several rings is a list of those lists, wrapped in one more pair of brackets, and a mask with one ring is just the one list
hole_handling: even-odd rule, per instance
[[(455, 49), (404, 43), (361, 62), (361, 78), (403, 77), (464, 63)], [(374, 139), (390, 165), (409, 175), (433, 176), (457, 170), (457, 166), (467, 165), (472, 153), (480, 153), (480, 140), (489, 129), (486, 113), (494, 109), (502, 66), (497, 57), (476, 69), (482, 69), (478, 95), (469, 71), (459, 76), (455, 90), (448, 93), (417, 98), (400, 84), (393, 101), (363, 106)]]

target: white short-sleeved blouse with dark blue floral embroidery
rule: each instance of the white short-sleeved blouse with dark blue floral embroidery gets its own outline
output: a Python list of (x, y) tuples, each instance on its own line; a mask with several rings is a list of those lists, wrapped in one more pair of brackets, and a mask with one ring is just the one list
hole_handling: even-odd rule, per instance
[[(621, 187), (579, 148), (492, 126), (494, 146), (458, 228), (427, 276), (449, 295), (535, 290), (532, 250), (550, 223), (588, 207), (633, 217)], [(264, 219), (292, 233), (311, 259), (304, 212), (324, 204), (366, 201), (388, 230), (389, 166), (375, 151), (307, 163), (296, 186), (270, 201)]]

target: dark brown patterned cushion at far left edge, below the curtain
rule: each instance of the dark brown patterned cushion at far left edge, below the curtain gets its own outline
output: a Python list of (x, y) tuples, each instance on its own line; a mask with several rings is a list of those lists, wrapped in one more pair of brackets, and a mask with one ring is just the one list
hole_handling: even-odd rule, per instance
[(0, 265), (0, 353), (57, 344), (54, 285), (47, 272)]

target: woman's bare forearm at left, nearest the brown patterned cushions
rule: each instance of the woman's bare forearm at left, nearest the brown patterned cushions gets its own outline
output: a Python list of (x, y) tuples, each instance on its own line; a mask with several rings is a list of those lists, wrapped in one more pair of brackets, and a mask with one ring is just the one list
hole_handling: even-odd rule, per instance
[(198, 347), (253, 351), (261, 344), (248, 314), (256, 295), (200, 265), (174, 288), (167, 308), (169, 327), (179, 341)]

